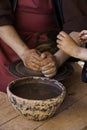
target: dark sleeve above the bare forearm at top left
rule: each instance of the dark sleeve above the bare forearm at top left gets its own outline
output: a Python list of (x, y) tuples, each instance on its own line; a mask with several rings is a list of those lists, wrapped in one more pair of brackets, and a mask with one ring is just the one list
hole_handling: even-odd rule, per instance
[(12, 25), (14, 15), (10, 0), (0, 0), (0, 26)]

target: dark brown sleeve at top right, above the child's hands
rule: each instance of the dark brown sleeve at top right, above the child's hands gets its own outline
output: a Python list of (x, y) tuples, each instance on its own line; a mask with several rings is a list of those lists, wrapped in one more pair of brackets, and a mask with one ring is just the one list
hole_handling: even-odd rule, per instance
[(87, 0), (62, 0), (62, 10), (64, 31), (87, 30)]

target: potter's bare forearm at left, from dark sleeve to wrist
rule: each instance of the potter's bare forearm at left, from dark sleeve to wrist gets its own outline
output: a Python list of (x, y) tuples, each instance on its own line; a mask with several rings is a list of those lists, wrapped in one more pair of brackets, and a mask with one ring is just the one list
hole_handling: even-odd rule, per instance
[(0, 26), (0, 38), (21, 58), (28, 47), (11, 25)]

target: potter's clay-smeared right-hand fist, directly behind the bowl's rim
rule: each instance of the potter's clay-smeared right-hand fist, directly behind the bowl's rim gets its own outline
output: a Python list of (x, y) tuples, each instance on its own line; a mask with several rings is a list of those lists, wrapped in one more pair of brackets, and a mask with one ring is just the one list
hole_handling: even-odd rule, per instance
[(55, 57), (49, 53), (44, 52), (41, 54), (41, 71), (46, 77), (53, 77), (56, 75), (57, 67)]

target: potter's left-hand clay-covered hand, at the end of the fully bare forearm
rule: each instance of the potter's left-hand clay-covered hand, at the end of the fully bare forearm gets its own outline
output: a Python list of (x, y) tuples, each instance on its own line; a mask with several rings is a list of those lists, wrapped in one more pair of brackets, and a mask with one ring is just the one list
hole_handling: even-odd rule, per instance
[(34, 71), (40, 71), (40, 52), (35, 49), (26, 51), (22, 56), (24, 65)]

